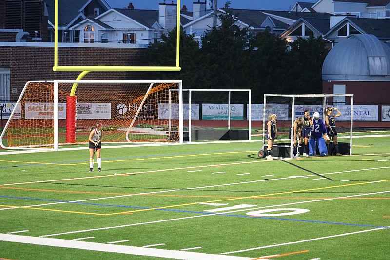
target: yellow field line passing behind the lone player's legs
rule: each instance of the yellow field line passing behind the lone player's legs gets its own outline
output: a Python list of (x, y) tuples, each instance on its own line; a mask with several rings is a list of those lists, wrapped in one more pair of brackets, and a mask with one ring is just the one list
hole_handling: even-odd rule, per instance
[[(137, 159), (124, 159), (124, 160), (104, 160), (104, 163), (107, 162), (119, 162), (119, 161), (136, 161), (136, 160), (155, 160), (155, 159), (172, 159), (172, 158), (182, 158), (182, 157), (195, 157), (195, 156), (208, 156), (208, 155), (222, 155), (222, 154), (238, 154), (238, 153), (249, 153), (254, 151), (240, 151), (240, 152), (222, 152), (222, 153), (209, 153), (209, 154), (191, 154), (191, 155), (175, 155), (167, 157), (153, 157), (153, 158), (137, 158)], [(89, 164), (89, 162), (80, 162), (80, 163), (51, 163), (51, 162), (33, 162), (33, 161), (15, 161), (15, 160), (0, 160), (1, 162), (16, 162), (16, 163), (30, 163), (30, 164), (48, 164), (48, 165), (65, 165), (65, 166), (74, 166)]]

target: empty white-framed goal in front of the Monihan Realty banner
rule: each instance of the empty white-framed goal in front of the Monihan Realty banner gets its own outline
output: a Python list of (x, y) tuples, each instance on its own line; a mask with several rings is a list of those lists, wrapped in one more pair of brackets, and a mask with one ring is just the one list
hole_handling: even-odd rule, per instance
[(184, 139), (251, 140), (250, 89), (184, 89)]

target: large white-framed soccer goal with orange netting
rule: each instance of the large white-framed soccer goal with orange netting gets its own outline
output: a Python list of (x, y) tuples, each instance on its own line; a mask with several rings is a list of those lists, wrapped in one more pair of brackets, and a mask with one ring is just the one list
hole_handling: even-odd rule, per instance
[[(25, 84), (0, 136), (3, 148), (59, 150), (88, 143), (183, 142), (181, 80), (54, 80)], [(69, 146), (71, 145), (71, 146)]]

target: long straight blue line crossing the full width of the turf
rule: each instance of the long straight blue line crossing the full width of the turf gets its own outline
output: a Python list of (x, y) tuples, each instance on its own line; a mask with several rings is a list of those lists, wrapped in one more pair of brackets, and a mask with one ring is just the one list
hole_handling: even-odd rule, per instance
[(252, 219), (255, 218), (255, 219), (266, 219), (266, 220), (287, 220), (287, 221), (297, 221), (297, 222), (309, 222), (309, 223), (320, 223), (320, 224), (333, 224), (333, 225), (345, 225), (345, 226), (358, 226), (358, 227), (372, 227), (372, 228), (387, 228), (387, 229), (390, 229), (390, 227), (387, 227), (387, 226), (376, 226), (376, 225), (365, 225), (365, 224), (351, 224), (351, 223), (329, 222), (329, 221), (320, 221), (320, 220), (285, 219), (285, 218), (273, 218), (273, 217), (264, 217), (264, 216), (249, 216), (249, 215), (237, 215), (237, 214), (226, 214), (226, 213), (211, 213), (211, 212), (203, 212), (203, 211), (190, 211), (190, 210), (177, 210), (177, 209), (163, 209), (163, 208), (148, 208), (148, 207), (137, 207), (137, 206), (123, 206), (123, 205), (87, 203), (87, 202), (66, 201), (66, 200), (49, 200), (49, 199), (23, 198), (23, 197), (14, 197), (14, 196), (0, 196), (0, 198), (22, 199), (22, 200), (44, 200), (44, 201), (54, 201), (54, 202), (74, 203), (74, 204), (83, 204), (83, 205), (104, 206), (104, 207), (152, 209), (152, 210), (172, 211), (172, 212), (191, 213), (191, 214), (219, 215), (219, 216), (227, 216), (227, 217), (240, 217), (240, 218), (252, 218)]

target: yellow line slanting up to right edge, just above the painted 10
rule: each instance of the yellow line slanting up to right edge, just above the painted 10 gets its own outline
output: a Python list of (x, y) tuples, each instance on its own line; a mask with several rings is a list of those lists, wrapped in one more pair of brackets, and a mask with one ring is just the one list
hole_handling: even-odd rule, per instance
[(344, 185), (339, 185), (339, 186), (314, 188), (314, 189), (306, 189), (306, 190), (299, 190), (299, 191), (277, 192), (277, 193), (273, 193), (273, 194), (255, 195), (255, 196), (231, 198), (231, 199), (224, 199), (224, 200), (209, 200), (209, 201), (204, 201), (204, 202), (192, 202), (192, 203), (180, 204), (180, 205), (171, 205), (171, 206), (165, 206), (165, 207), (138, 209), (138, 210), (126, 211), (126, 212), (117, 212), (117, 213), (111, 213), (111, 214), (107, 214), (107, 215), (117, 215), (117, 214), (123, 214), (123, 213), (134, 213), (134, 212), (141, 212), (141, 211), (148, 211), (148, 210), (166, 209), (166, 208), (174, 208), (174, 207), (181, 207), (181, 206), (191, 206), (191, 205), (196, 205), (199, 203), (215, 203), (215, 202), (220, 202), (220, 201), (243, 200), (243, 199), (251, 199), (251, 198), (269, 197), (269, 196), (273, 196), (273, 195), (308, 192), (308, 191), (324, 190), (324, 189), (332, 189), (332, 188), (341, 188), (341, 187), (348, 187), (348, 186), (355, 186), (355, 185), (362, 185), (362, 184), (371, 184), (371, 183), (378, 183), (378, 182), (385, 182), (385, 181), (390, 181), (390, 180), (377, 180), (377, 181), (369, 181), (369, 182), (362, 182), (362, 183), (351, 183), (351, 184), (344, 184)]

